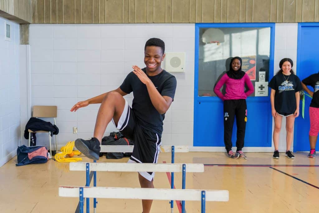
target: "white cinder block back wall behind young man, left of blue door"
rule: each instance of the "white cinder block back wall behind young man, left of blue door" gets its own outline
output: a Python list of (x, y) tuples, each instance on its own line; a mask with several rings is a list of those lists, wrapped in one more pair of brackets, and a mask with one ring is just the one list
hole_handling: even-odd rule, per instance
[[(185, 73), (174, 73), (177, 90), (166, 113), (162, 142), (192, 145), (194, 24), (30, 25), (31, 106), (58, 107), (60, 146), (93, 136), (99, 105), (76, 113), (70, 108), (120, 86), (132, 65), (144, 67), (145, 42), (152, 37), (165, 41), (166, 52), (186, 53)], [(125, 98), (132, 103), (132, 94)], [(73, 127), (78, 134), (72, 133)], [(115, 130), (110, 123), (106, 135)], [(48, 144), (47, 136), (37, 134), (37, 144)]]

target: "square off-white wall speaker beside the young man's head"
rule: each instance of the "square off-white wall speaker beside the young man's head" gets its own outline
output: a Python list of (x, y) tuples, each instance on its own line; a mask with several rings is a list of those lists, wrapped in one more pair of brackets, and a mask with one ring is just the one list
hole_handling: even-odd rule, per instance
[(165, 70), (167, 72), (185, 72), (185, 53), (166, 53)]

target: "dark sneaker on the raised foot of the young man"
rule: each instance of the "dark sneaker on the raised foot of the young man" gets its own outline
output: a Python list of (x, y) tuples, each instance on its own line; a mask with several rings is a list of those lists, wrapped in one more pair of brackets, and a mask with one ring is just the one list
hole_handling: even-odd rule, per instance
[(98, 160), (100, 155), (100, 141), (93, 137), (90, 140), (78, 138), (75, 140), (75, 147), (82, 152), (86, 157), (93, 160)]

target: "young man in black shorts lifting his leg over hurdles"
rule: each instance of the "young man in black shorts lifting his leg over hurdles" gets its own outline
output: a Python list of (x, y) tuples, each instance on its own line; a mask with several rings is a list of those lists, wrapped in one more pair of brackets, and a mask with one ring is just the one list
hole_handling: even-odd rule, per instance
[[(86, 157), (98, 160), (100, 143), (108, 123), (112, 120), (125, 137), (134, 141), (129, 162), (157, 163), (163, 132), (163, 120), (176, 90), (176, 78), (161, 68), (165, 57), (164, 41), (151, 38), (144, 48), (145, 68), (132, 66), (122, 85), (116, 90), (80, 101), (70, 111), (77, 111), (89, 104), (101, 103), (93, 138), (77, 139), (76, 148)], [(133, 92), (130, 107), (123, 96)], [(139, 172), (142, 188), (154, 188), (154, 172)], [(149, 213), (152, 200), (142, 200), (143, 213)]]

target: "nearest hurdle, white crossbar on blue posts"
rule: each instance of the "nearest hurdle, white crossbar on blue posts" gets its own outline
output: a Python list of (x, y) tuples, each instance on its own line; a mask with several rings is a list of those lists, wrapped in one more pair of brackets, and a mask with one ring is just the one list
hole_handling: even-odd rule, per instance
[(194, 189), (156, 189), (156, 188), (119, 188), (119, 187), (59, 187), (61, 197), (79, 197), (80, 213), (84, 212), (86, 198), (118, 198), (148, 200), (187, 200), (201, 201), (201, 212), (205, 213), (206, 201), (228, 201), (226, 190)]

